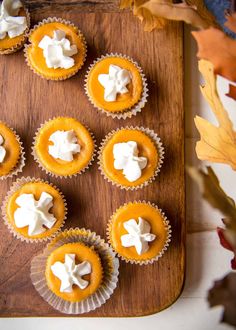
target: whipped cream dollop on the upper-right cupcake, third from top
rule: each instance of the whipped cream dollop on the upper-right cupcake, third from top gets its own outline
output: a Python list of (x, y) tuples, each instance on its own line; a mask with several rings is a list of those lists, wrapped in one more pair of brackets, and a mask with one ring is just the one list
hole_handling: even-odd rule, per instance
[(117, 65), (109, 66), (108, 74), (100, 74), (98, 81), (105, 88), (104, 100), (113, 102), (116, 100), (117, 94), (125, 94), (129, 90), (126, 87), (132, 80), (131, 72), (122, 69)]

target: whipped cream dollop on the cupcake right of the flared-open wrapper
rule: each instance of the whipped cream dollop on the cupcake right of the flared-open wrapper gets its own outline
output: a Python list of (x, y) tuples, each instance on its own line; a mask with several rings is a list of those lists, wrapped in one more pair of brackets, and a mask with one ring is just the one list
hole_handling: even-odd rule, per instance
[(149, 242), (156, 239), (156, 235), (151, 234), (151, 226), (148, 221), (138, 218), (138, 223), (134, 219), (130, 219), (123, 224), (128, 234), (121, 236), (121, 244), (124, 247), (134, 246), (139, 255), (145, 253), (149, 249)]

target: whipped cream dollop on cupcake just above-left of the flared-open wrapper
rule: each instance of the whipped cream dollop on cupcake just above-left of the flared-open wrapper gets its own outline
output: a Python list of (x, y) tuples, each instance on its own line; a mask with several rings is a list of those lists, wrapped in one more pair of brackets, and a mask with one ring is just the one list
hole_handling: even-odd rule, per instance
[(53, 206), (53, 197), (42, 192), (37, 201), (33, 194), (22, 194), (16, 199), (19, 206), (14, 213), (15, 225), (17, 228), (28, 226), (28, 235), (42, 234), (47, 227), (52, 228), (57, 219), (49, 210)]

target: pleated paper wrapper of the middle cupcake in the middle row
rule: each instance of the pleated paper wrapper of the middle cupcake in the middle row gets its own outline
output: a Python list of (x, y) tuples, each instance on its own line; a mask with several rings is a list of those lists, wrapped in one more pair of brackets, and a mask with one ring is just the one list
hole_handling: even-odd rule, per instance
[(87, 166), (85, 166), (82, 170), (80, 170), (80, 172), (75, 173), (75, 174), (71, 174), (71, 175), (58, 175), (56, 173), (53, 173), (53, 172), (48, 171), (44, 167), (44, 165), (41, 163), (41, 161), (40, 161), (40, 159), (39, 159), (39, 157), (37, 155), (37, 152), (35, 150), (35, 143), (36, 143), (36, 140), (37, 140), (38, 135), (40, 134), (40, 130), (43, 128), (43, 126), (46, 125), (51, 120), (54, 120), (56, 118), (58, 118), (58, 117), (53, 117), (52, 119), (46, 120), (38, 128), (38, 130), (36, 131), (36, 134), (35, 134), (35, 136), (33, 138), (33, 146), (32, 146), (32, 153), (31, 154), (33, 155), (34, 160), (37, 162), (37, 164), (41, 168), (41, 170), (43, 170), (44, 172), (46, 172), (51, 177), (60, 178), (60, 179), (63, 179), (63, 178), (73, 178), (73, 177), (76, 177), (77, 175), (83, 174), (92, 165), (92, 163), (93, 163), (93, 161), (94, 161), (94, 159), (96, 157), (96, 154), (97, 154), (97, 143), (96, 143), (96, 139), (95, 139), (95, 136), (94, 136), (93, 132), (91, 132), (90, 128), (88, 126), (86, 126), (86, 125), (83, 124), (83, 126), (86, 127), (86, 129), (89, 131), (89, 134), (91, 135), (92, 140), (93, 140), (93, 143), (94, 143), (94, 152), (93, 152), (93, 155), (92, 155), (90, 161), (88, 162)]

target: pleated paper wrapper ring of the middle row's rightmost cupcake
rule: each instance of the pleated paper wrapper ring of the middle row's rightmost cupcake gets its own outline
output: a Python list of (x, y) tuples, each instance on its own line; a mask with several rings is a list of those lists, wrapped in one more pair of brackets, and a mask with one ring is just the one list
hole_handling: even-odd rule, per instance
[[(147, 181), (145, 181), (144, 183), (138, 185), (138, 186), (124, 186), (118, 182), (115, 182), (113, 180), (111, 180), (105, 173), (105, 170), (103, 168), (103, 161), (102, 161), (102, 154), (103, 154), (103, 150), (107, 144), (107, 142), (111, 139), (111, 137), (116, 134), (118, 131), (121, 131), (123, 129), (127, 129), (127, 130), (139, 130), (140, 132), (145, 133), (155, 144), (157, 152), (158, 152), (158, 156), (159, 156), (159, 160), (158, 160), (158, 164), (157, 164), (157, 168), (153, 174), (153, 176), (151, 178), (149, 178)], [(99, 166), (99, 170), (101, 171), (101, 174), (103, 175), (103, 177), (110, 182), (113, 186), (117, 186), (121, 189), (125, 189), (125, 190), (137, 190), (137, 189), (141, 189), (143, 187), (148, 186), (151, 182), (153, 182), (158, 173), (161, 170), (162, 164), (164, 161), (164, 148), (161, 142), (161, 139), (159, 138), (159, 136), (151, 129), (149, 128), (144, 128), (144, 127), (133, 127), (133, 126), (127, 126), (127, 127), (121, 127), (118, 128), (116, 130), (111, 131), (109, 134), (106, 135), (106, 137), (103, 139), (101, 146), (99, 147), (99, 151), (98, 151), (98, 166)]]

